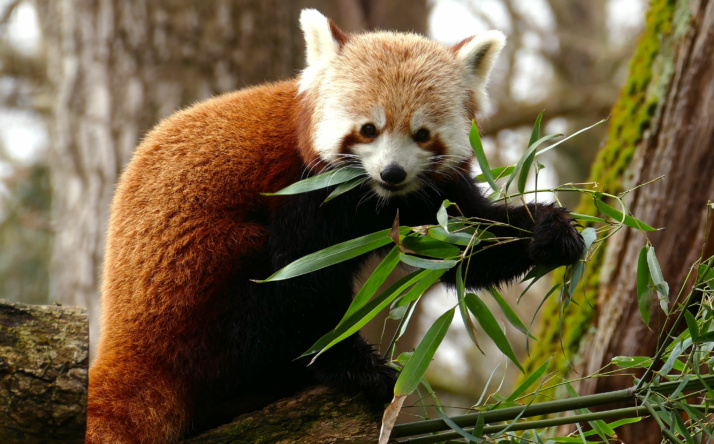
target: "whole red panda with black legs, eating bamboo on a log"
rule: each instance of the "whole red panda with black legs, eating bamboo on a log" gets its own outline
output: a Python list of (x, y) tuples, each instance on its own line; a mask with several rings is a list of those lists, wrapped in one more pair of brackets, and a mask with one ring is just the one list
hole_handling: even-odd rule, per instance
[[(209, 425), (227, 399), (254, 408), (314, 383), (389, 401), (396, 372), (359, 335), (309, 367), (294, 360), (344, 314), (359, 259), (278, 283), (251, 279), (388, 228), (397, 210), (406, 225), (435, 223), (449, 199), (468, 217), (532, 232), (495, 229), (523, 239), (473, 256), (471, 288), (578, 260), (583, 241), (565, 209), (507, 211), (468, 177), (468, 131), (501, 33), (443, 47), (415, 34), (348, 35), (315, 10), (300, 22), (307, 67), (297, 79), (177, 112), (123, 172), (87, 442), (174, 442)], [(368, 180), (325, 204), (325, 190), (262, 194), (344, 165)]]

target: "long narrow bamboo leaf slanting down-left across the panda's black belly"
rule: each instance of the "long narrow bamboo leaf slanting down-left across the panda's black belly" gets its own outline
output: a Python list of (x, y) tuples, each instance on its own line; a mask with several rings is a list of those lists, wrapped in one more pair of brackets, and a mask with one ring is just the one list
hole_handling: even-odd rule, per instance
[(433, 272), (430, 270), (415, 271), (390, 285), (389, 288), (362, 306), (362, 308), (357, 310), (352, 316), (343, 319), (334, 330), (318, 339), (312, 347), (301, 355), (301, 357), (317, 353), (317, 355), (313, 358), (314, 361), (318, 356), (338, 342), (352, 336), (355, 332), (357, 332), (357, 330), (367, 324), (367, 322), (371, 321), (386, 306), (391, 304), (392, 301), (394, 301), (397, 296), (402, 294), (403, 291), (424, 279), (429, 275), (429, 273)]

